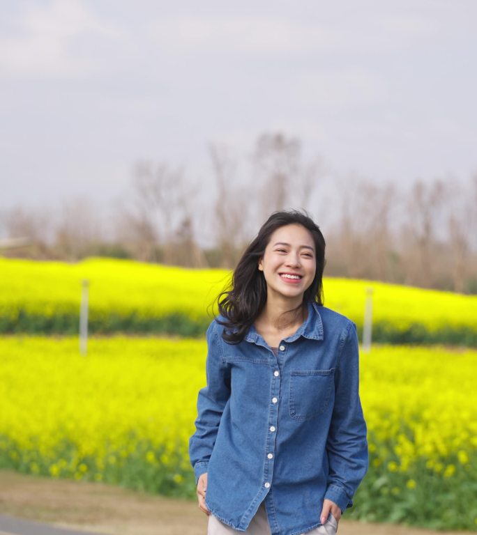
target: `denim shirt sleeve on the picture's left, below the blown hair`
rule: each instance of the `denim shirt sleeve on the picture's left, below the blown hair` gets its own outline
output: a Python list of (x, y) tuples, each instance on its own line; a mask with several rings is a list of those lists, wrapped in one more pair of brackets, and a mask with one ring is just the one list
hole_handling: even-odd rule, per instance
[(207, 472), (220, 418), (230, 397), (230, 374), (222, 356), (215, 320), (207, 329), (206, 339), (207, 385), (197, 397), (196, 431), (189, 440), (190, 463), (194, 468), (196, 485), (199, 476)]

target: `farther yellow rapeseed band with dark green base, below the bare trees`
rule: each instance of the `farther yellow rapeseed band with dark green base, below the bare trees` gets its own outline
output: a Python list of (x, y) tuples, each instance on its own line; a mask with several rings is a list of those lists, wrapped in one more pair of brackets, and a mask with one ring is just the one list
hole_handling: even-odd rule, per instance
[[(82, 279), (90, 282), (92, 332), (202, 334), (207, 307), (230, 277), (224, 270), (109, 259), (0, 259), (0, 273), (0, 332), (36, 334), (76, 332)], [(374, 339), (477, 345), (477, 296), (325, 278), (325, 304), (359, 328), (367, 288), (373, 289)]]

